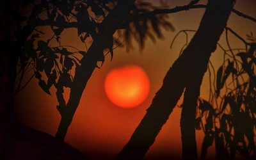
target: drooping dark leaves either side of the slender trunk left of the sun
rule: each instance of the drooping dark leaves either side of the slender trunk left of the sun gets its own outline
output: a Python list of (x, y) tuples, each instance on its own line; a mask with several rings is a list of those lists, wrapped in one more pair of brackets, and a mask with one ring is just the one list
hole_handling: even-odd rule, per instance
[[(24, 54), (20, 57), (20, 83), (16, 91), (22, 89), (21, 81), (24, 73), (34, 70), (31, 76), (38, 79), (39, 86), (45, 93), (50, 93), (50, 88), (58, 88), (56, 93), (63, 93), (63, 87), (70, 88), (75, 74), (74, 68), (81, 65), (80, 60), (85, 56), (87, 46), (100, 35), (104, 28), (100, 23), (108, 13), (115, 8), (117, 1), (37, 1), (31, 2), (21, 20), (27, 23), (31, 35), (25, 42)], [(161, 6), (160, 6), (161, 7)], [(156, 8), (151, 3), (137, 1), (131, 10), (131, 15), (119, 26), (118, 34), (102, 53), (100, 61), (104, 63), (104, 56), (110, 52), (113, 57), (115, 47), (127, 44), (127, 49), (132, 48), (131, 38), (138, 42), (141, 48), (145, 39), (149, 37), (154, 42), (155, 36), (162, 38), (161, 28), (174, 30), (172, 24), (166, 19), (167, 15), (153, 15), (150, 12)], [(48, 26), (52, 32), (44, 33), (42, 27)], [(65, 29), (77, 29), (77, 38), (84, 44), (84, 49), (76, 49), (72, 45), (61, 45), (61, 33)], [(42, 40), (41, 37), (49, 37)], [(125, 42), (125, 43), (123, 43)], [(29, 66), (28, 66), (29, 65)], [(98, 66), (97, 66), (98, 67)], [(30, 80), (30, 79), (29, 79)], [(22, 83), (22, 84), (27, 84)], [(59, 100), (63, 101), (63, 100)], [(64, 103), (60, 102), (60, 103)]]

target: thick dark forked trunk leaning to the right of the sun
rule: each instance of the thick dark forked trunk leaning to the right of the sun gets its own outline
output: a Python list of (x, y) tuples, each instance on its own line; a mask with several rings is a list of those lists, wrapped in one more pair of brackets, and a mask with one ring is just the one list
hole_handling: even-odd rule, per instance
[[(216, 49), (216, 43), (227, 24), (233, 3), (234, 0), (209, 0), (198, 31), (182, 55), (168, 70), (163, 85), (156, 93), (146, 115), (116, 159), (143, 159), (148, 148), (154, 143), (161, 127), (168, 120), (185, 86), (188, 86), (186, 95), (193, 96), (189, 99), (185, 97), (186, 106), (182, 114), (189, 115), (189, 118), (183, 116), (181, 122), (182, 125), (186, 124), (188, 120), (195, 122), (196, 106), (194, 104), (198, 91), (195, 91), (197, 88), (191, 87), (194, 81), (191, 82), (190, 79), (198, 79), (196, 85), (200, 85), (200, 79), (202, 79), (205, 72), (204, 66), (207, 66), (211, 52)], [(189, 114), (190, 110), (192, 111), (191, 115)], [(186, 157), (191, 156), (196, 159), (195, 125), (192, 125), (193, 127), (188, 128), (189, 132), (192, 133), (191, 137), (184, 133), (185, 130), (187, 131), (187, 129), (184, 129), (187, 126), (182, 127), (184, 129), (182, 130), (182, 144), (189, 144), (189, 147), (184, 149), (184, 154), (187, 150), (191, 150)], [(190, 140), (190, 138), (193, 138), (193, 140)]]

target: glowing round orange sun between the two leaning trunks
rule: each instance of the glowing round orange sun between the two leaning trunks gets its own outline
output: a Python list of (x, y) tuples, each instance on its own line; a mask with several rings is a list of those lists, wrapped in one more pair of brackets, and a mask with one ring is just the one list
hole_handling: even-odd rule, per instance
[(149, 80), (145, 71), (136, 65), (111, 70), (105, 79), (105, 92), (109, 100), (122, 108), (141, 104), (149, 92)]

